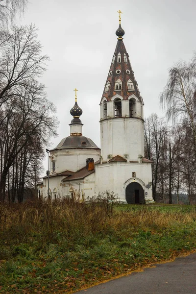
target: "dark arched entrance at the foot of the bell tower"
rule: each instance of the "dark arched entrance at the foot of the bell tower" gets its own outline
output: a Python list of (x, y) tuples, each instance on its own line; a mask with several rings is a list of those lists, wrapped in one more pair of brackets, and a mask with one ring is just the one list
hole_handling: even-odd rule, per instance
[(128, 184), (125, 190), (126, 202), (128, 204), (144, 204), (144, 189), (137, 182)]

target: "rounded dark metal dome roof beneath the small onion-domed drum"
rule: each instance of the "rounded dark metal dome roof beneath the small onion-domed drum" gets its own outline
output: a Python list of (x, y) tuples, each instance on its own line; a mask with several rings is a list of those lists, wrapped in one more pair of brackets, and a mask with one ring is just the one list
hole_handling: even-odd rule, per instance
[(88, 149), (99, 149), (97, 145), (85, 136), (69, 136), (61, 140), (58, 146), (52, 150), (56, 149), (73, 149), (73, 148), (88, 148)]

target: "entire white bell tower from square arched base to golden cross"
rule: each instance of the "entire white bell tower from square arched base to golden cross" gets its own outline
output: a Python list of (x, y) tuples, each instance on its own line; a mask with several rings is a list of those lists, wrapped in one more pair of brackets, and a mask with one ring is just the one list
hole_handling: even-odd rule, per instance
[(144, 102), (119, 27), (100, 101), (100, 163), (96, 192), (114, 191), (123, 202), (153, 201), (151, 161), (144, 158)]

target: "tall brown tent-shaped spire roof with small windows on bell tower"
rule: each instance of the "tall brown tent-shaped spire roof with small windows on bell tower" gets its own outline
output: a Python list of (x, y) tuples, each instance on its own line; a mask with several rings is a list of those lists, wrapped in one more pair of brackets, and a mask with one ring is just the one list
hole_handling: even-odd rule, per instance
[[(123, 99), (126, 100), (129, 96), (134, 94), (140, 101), (142, 101), (138, 88), (138, 83), (135, 79), (134, 72), (128, 58), (129, 55), (123, 43), (122, 35), (124, 35), (124, 30), (121, 27), (121, 24), (119, 25), (116, 34), (117, 36), (119, 36), (119, 38), (105, 83), (105, 85), (109, 84), (110, 86), (107, 92), (105, 92), (106, 89), (104, 88), (102, 98), (105, 97), (109, 101), (113, 96), (119, 94), (123, 97)], [(122, 82), (121, 90), (115, 90), (115, 82)], [(132, 88), (131, 86), (133, 86), (133, 89), (128, 89), (127, 82), (130, 83), (130, 88)]]

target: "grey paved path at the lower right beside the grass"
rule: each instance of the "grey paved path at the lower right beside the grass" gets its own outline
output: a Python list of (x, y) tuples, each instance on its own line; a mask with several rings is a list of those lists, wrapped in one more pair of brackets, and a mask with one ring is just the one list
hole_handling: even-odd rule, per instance
[(80, 294), (196, 294), (196, 253), (173, 262), (156, 264), (143, 272), (133, 272)]

